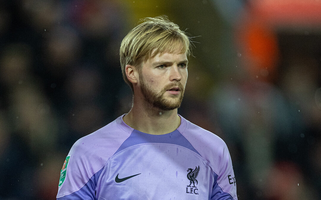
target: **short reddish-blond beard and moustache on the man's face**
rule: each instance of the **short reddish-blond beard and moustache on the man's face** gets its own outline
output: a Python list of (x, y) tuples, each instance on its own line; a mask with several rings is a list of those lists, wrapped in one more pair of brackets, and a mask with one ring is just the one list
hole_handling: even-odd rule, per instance
[[(146, 83), (141, 74), (139, 75), (139, 80), (141, 82), (141, 92), (145, 101), (152, 105), (152, 107), (159, 108), (160, 110), (173, 110), (180, 107), (184, 96), (184, 87), (180, 82), (170, 83), (157, 93)], [(170, 95), (166, 99), (164, 96), (165, 92), (173, 87), (179, 87), (180, 94)]]

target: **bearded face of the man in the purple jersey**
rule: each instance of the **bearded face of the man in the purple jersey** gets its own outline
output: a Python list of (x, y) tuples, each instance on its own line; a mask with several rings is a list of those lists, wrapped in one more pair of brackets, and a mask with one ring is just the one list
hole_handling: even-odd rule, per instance
[(157, 54), (143, 63), (139, 82), (144, 100), (154, 108), (179, 108), (187, 81), (186, 53)]

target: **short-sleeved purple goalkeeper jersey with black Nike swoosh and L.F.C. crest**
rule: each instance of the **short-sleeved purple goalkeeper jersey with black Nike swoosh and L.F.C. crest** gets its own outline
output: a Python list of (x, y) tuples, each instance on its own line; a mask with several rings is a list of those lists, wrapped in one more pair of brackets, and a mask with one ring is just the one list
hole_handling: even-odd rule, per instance
[(75, 142), (57, 199), (237, 199), (221, 138), (182, 116), (163, 135), (137, 131), (123, 116)]

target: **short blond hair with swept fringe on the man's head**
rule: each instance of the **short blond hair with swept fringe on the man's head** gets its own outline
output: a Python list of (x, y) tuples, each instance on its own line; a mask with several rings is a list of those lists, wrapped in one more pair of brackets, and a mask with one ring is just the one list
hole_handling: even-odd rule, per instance
[(126, 65), (132, 65), (140, 70), (143, 61), (152, 59), (159, 53), (178, 51), (190, 55), (190, 37), (166, 16), (147, 17), (141, 21), (143, 23), (125, 36), (119, 50), (123, 78), (133, 92), (133, 84), (126, 76)]

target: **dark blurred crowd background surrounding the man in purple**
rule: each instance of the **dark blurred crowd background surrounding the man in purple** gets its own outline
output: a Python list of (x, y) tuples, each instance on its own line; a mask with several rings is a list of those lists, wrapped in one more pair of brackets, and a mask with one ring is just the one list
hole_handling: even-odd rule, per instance
[(227, 143), (239, 199), (320, 199), (320, 0), (0, 0), (0, 199), (55, 199), (74, 142), (129, 111), (119, 46), (159, 15), (194, 36), (178, 113)]

